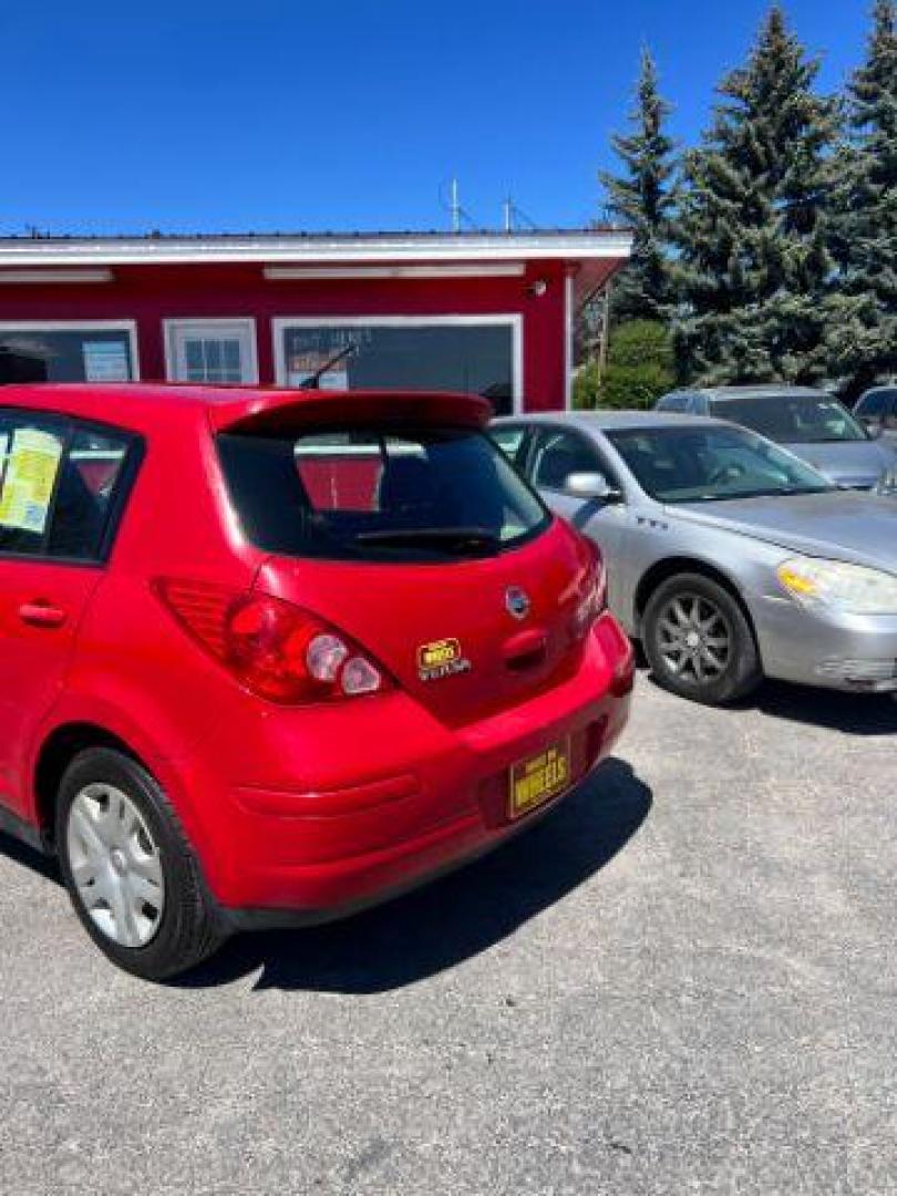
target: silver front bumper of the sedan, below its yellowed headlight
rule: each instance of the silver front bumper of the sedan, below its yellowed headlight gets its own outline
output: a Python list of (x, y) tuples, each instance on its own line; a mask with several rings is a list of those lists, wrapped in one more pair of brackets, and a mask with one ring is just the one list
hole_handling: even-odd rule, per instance
[(817, 615), (767, 599), (756, 617), (768, 677), (849, 692), (897, 691), (897, 616)]

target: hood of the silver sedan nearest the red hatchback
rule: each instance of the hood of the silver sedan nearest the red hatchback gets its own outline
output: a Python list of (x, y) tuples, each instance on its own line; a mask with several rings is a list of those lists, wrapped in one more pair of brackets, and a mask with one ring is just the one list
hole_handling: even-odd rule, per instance
[(719, 527), (807, 556), (897, 573), (897, 501), (831, 490), (666, 507), (671, 519)]

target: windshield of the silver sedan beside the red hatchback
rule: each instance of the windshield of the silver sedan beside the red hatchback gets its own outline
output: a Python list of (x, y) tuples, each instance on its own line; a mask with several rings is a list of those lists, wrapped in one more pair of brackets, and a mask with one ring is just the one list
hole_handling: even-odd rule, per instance
[(822, 474), (742, 428), (624, 428), (608, 439), (658, 502), (714, 502), (832, 490)]

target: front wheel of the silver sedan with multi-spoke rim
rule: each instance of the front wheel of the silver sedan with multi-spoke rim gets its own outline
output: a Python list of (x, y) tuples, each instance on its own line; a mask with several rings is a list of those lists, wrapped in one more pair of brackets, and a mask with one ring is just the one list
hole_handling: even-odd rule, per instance
[[(694, 611), (697, 622), (683, 623), (679, 614)], [(671, 634), (671, 626), (682, 627), (682, 640)], [(690, 646), (685, 635), (694, 636), (692, 626), (697, 646)], [(727, 648), (720, 647), (724, 628)], [(645, 609), (642, 643), (654, 681), (692, 702), (725, 706), (752, 692), (763, 679), (757, 642), (742, 606), (700, 573), (681, 573), (658, 586)]]

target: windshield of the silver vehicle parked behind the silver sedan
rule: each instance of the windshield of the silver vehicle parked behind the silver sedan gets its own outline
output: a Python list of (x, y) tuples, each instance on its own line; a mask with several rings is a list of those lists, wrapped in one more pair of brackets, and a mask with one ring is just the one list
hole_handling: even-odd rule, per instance
[(783, 445), (867, 440), (861, 423), (826, 395), (753, 395), (710, 399), (710, 415)]

